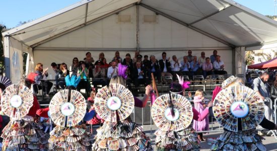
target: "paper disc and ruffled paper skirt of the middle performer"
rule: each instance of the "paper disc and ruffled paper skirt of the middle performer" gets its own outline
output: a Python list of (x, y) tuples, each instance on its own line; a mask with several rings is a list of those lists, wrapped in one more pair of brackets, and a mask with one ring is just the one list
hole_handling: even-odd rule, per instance
[(110, 84), (98, 89), (94, 101), (97, 114), (105, 122), (97, 129), (92, 150), (153, 150), (142, 126), (129, 118), (135, 102), (128, 89)]

